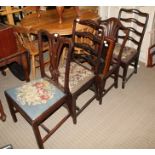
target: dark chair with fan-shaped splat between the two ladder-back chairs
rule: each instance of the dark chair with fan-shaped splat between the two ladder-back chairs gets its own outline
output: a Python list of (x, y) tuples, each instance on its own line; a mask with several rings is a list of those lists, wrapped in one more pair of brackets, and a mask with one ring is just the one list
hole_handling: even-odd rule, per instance
[[(105, 40), (106, 46), (105, 50), (107, 50), (106, 56), (104, 56), (104, 68), (100, 71), (99, 74), (99, 96), (100, 96), (100, 104), (102, 103), (102, 97), (112, 88), (118, 87), (118, 73), (120, 68), (121, 56), (123, 49), (125, 47), (129, 30), (124, 27), (121, 22), (117, 18), (109, 18), (107, 20), (99, 20), (101, 26), (104, 27), (104, 36), (106, 36), (107, 40)], [(118, 34), (120, 34), (120, 39), (118, 38)], [(110, 39), (113, 41), (110, 41)], [(119, 48), (117, 48), (117, 42), (120, 42)], [(112, 43), (111, 43), (112, 42)], [(114, 51), (117, 48), (117, 57), (113, 57)], [(106, 83), (108, 79), (113, 79), (113, 82), (109, 82), (108, 87)]]

